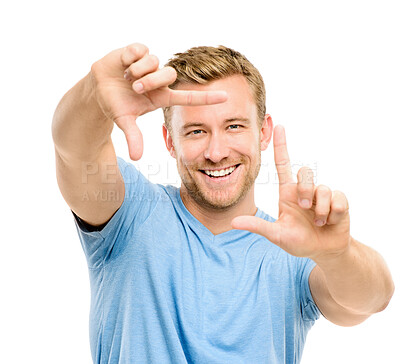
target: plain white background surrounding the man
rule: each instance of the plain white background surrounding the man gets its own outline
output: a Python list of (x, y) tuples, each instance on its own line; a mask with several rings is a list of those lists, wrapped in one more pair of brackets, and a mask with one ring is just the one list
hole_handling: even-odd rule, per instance
[[(345, 192), (352, 235), (385, 257), (400, 284), (398, 2), (144, 3), (1, 5), (1, 363), (91, 362), (86, 261), (56, 183), (51, 120), (94, 61), (132, 42), (148, 45), (161, 64), (199, 45), (244, 53), (264, 76), (267, 111), (286, 127), (294, 172), (310, 165), (318, 184)], [(139, 125), (142, 171), (173, 182), (162, 172), (174, 161), (163, 144), (161, 111)], [(113, 138), (128, 160), (118, 128)], [(256, 200), (276, 217), (272, 148), (263, 164)], [(360, 326), (318, 320), (302, 363), (397, 362), (399, 306), (396, 292)]]

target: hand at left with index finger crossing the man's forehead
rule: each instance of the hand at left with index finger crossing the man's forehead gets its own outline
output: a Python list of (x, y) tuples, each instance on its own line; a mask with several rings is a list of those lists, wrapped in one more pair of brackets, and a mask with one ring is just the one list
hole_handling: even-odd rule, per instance
[[(143, 154), (143, 137), (136, 119), (160, 107), (211, 105), (226, 101), (224, 91), (179, 91), (168, 88), (177, 75), (172, 67), (158, 68), (156, 56), (139, 43), (117, 49), (93, 64), (91, 78), (104, 115), (124, 132), (129, 156)], [(124, 76), (125, 75), (125, 76)], [(142, 91), (134, 87), (143, 85)]]

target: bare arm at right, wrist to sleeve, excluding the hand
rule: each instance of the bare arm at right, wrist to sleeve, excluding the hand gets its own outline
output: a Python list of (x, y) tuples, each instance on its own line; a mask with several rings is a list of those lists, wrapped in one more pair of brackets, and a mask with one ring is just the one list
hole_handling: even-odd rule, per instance
[(383, 258), (351, 238), (339, 256), (316, 259), (310, 289), (322, 314), (341, 326), (358, 324), (385, 309), (394, 284)]

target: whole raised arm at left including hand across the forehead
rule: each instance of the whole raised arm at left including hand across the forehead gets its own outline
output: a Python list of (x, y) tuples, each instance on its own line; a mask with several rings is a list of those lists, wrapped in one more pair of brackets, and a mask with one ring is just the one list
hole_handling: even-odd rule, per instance
[(171, 90), (168, 85), (175, 79), (173, 68), (159, 69), (157, 57), (135, 43), (94, 63), (59, 103), (52, 124), (57, 181), (70, 208), (85, 222), (104, 224), (124, 199), (111, 141), (114, 123), (125, 133), (130, 157), (138, 160), (143, 152), (139, 116), (160, 107), (226, 100), (220, 91)]

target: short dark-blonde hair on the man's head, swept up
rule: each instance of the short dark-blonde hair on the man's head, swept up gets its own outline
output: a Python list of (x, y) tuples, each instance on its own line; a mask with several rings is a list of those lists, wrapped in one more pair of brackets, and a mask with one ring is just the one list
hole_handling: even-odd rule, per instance
[[(241, 53), (224, 46), (193, 47), (184, 53), (176, 53), (165, 66), (174, 68), (178, 74), (175, 82), (169, 86), (171, 89), (180, 83), (206, 84), (233, 75), (243, 75), (250, 86), (261, 128), (266, 112), (264, 81), (257, 68)], [(171, 132), (171, 107), (163, 108), (163, 112), (165, 125)]]

